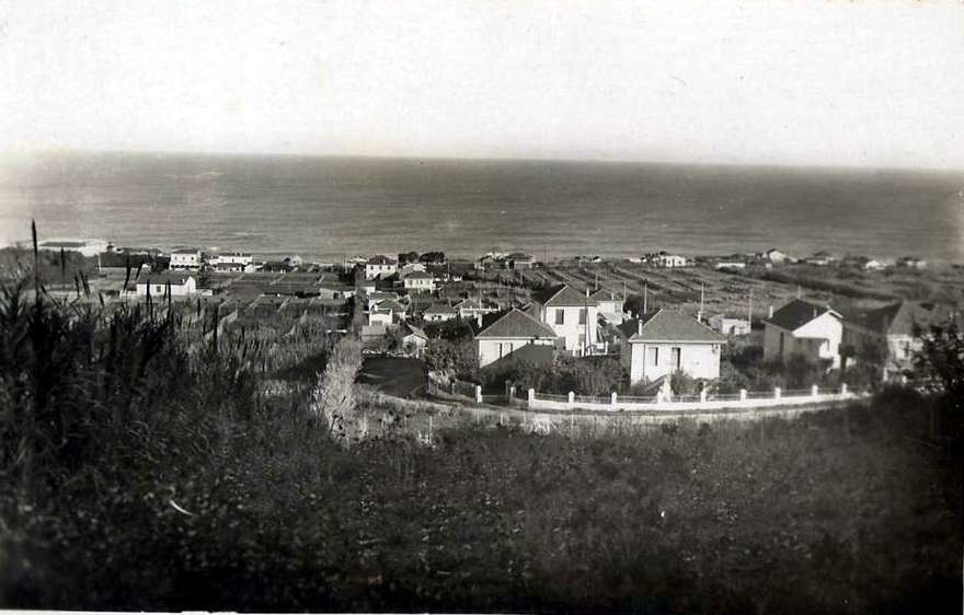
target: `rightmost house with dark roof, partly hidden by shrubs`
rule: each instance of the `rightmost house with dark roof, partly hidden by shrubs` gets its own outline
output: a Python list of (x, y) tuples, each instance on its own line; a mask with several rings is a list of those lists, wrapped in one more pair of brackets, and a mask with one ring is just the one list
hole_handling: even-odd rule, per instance
[(921, 337), (915, 337), (915, 327), (926, 337), (931, 326), (943, 326), (952, 321), (959, 328), (964, 327), (964, 318), (950, 305), (902, 301), (845, 321), (844, 344), (857, 352), (857, 361), (869, 344), (879, 345), (886, 352), (886, 378), (888, 373), (911, 367), (914, 355), (923, 344)]

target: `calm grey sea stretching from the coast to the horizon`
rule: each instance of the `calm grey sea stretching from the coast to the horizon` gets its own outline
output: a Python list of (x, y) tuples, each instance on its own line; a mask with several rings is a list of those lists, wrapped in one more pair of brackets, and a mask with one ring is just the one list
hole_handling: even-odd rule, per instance
[(262, 257), (539, 258), (778, 246), (964, 260), (964, 173), (70, 153), (0, 166), (0, 241), (99, 237)]

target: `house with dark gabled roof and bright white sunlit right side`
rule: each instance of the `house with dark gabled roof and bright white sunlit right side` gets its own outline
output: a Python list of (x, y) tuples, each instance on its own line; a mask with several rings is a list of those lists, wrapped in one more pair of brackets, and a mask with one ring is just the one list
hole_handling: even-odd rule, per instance
[(764, 359), (803, 355), (840, 367), (844, 317), (827, 306), (794, 299), (764, 320)]

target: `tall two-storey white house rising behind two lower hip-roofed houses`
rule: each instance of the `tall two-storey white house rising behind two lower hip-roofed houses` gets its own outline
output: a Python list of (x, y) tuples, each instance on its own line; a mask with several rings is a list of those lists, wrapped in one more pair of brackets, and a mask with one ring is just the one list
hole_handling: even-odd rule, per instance
[(592, 353), (596, 347), (599, 305), (567, 285), (550, 287), (536, 297), (539, 320), (562, 337), (563, 348), (575, 357)]

